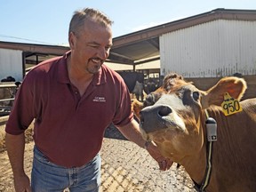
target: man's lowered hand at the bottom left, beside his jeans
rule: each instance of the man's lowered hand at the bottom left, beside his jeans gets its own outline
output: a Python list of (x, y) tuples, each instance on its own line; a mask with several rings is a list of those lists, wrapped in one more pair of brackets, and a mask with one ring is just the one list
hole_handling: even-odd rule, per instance
[(31, 192), (30, 181), (28, 176), (24, 175), (14, 177), (14, 188), (16, 192)]

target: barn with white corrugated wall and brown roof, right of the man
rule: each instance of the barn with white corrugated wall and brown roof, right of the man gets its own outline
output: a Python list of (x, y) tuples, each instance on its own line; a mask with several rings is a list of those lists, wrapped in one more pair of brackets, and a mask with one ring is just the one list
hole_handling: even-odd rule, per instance
[(177, 72), (202, 90), (223, 76), (243, 76), (245, 99), (256, 97), (255, 34), (256, 10), (215, 9), (116, 37), (113, 52), (145, 74), (157, 71), (141, 64), (159, 61), (160, 77)]

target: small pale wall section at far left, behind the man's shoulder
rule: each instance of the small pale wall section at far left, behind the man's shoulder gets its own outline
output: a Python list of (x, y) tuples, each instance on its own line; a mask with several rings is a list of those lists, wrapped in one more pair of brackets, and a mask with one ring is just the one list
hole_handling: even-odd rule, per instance
[(22, 81), (22, 51), (0, 49), (0, 80), (6, 76)]

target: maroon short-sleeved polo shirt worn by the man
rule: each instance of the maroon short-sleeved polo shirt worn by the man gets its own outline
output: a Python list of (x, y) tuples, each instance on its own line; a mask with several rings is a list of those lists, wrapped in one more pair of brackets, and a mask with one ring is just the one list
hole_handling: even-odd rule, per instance
[(70, 84), (67, 52), (46, 60), (24, 78), (5, 131), (24, 132), (35, 118), (37, 148), (54, 164), (88, 163), (101, 148), (104, 131), (113, 122), (131, 122), (131, 100), (121, 76), (104, 64), (81, 97)]

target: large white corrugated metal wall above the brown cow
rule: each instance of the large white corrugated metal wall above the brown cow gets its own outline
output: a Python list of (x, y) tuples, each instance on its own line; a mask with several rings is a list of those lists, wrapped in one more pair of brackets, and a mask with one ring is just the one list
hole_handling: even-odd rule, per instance
[(256, 21), (215, 20), (160, 36), (161, 75), (256, 75)]

